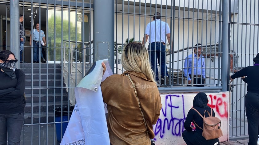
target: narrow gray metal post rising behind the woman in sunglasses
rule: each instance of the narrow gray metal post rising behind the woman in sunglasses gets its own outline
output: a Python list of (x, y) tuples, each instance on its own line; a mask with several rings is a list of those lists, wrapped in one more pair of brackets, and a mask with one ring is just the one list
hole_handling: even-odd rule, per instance
[(10, 51), (14, 53), (18, 63), (16, 68), (20, 68), (20, 34), (19, 34), (19, 1), (10, 1)]

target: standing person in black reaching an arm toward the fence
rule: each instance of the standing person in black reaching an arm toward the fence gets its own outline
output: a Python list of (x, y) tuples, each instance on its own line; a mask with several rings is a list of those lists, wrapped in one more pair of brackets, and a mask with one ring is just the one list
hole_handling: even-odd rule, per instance
[(257, 139), (259, 134), (259, 53), (253, 61), (254, 66), (245, 67), (230, 76), (230, 82), (232, 82), (235, 78), (242, 77), (243, 81), (247, 83), (245, 113), (248, 124), (248, 145), (258, 145)]

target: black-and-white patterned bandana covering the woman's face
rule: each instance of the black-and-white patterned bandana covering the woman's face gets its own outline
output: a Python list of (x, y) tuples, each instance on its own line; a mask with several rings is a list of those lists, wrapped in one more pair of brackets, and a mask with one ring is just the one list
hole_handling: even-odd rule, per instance
[(10, 78), (15, 78), (15, 62), (4, 62), (0, 63), (0, 68), (7, 74)]

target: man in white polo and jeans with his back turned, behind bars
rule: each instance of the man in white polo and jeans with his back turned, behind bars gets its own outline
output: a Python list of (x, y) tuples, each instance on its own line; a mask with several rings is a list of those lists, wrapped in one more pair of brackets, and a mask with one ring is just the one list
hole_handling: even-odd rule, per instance
[[(172, 40), (170, 38), (170, 28), (169, 25), (161, 21), (161, 14), (160, 13), (154, 13), (152, 22), (148, 23), (145, 31), (145, 35), (142, 40), (142, 44), (145, 45), (147, 42), (147, 39), (149, 37), (149, 45), (148, 50), (150, 52), (150, 63), (151, 67), (155, 73), (155, 79), (156, 81), (159, 80), (160, 76), (158, 76), (158, 69), (157, 69), (157, 60), (160, 64), (160, 75), (165, 80), (165, 84), (169, 84), (169, 74), (167, 72), (166, 62), (165, 62), (165, 43), (166, 39), (168, 40), (168, 43)], [(172, 47), (172, 46), (171, 46)], [(161, 60), (161, 61), (160, 61)]]

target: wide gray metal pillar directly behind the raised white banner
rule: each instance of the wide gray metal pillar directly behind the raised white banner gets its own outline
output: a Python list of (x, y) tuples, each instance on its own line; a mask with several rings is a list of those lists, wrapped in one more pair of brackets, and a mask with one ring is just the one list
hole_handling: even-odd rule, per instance
[(108, 58), (114, 71), (114, 3), (95, 0), (94, 16), (94, 61)]

